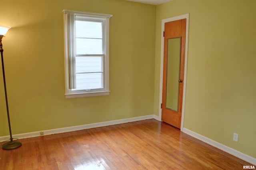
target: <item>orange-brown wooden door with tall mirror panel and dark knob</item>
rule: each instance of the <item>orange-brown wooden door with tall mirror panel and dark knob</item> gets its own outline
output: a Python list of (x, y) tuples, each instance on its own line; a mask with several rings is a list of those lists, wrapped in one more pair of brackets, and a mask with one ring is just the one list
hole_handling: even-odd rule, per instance
[(164, 25), (162, 120), (180, 128), (185, 63), (186, 19)]

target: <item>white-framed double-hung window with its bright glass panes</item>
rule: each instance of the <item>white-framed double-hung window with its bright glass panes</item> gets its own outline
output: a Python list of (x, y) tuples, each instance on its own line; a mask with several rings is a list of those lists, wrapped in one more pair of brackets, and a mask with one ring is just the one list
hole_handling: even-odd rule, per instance
[(109, 94), (110, 14), (63, 10), (66, 98)]

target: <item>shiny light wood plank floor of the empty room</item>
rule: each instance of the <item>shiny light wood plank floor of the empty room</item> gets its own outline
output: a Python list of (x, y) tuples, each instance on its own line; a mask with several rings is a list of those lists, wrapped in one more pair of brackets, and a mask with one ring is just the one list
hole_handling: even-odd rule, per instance
[(19, 141), (20, 148), (0, 149), (1, 170), (242, 170), (251, 165), (154, 119)]

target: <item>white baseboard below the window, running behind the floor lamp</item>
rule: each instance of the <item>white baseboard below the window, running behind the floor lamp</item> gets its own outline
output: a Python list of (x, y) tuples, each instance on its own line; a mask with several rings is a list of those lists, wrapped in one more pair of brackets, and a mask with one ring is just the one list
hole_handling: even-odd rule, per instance
[[(40, 132), (44, 132), (44, 136), (45, 136), (45, 135), (72, 132), (72, 131), (84, 130), (84, 129), (90, 129), (90, 128), (98, 128), (98, 127), (102, 127), (102, 126), (110, 126), (110, 125), (122, 124), (122, 123), (128, 123), (128, 122), (136, 122), (136, 121), (140, 121), (140, 120), (154, 119), (155, 117), (156, 117), (156, 115), (152, 114), (152, 115), (148, 115), (148, 116), (139, 116), (139, 117), (134, 117), (134, 118), (112, 120), (112, 121), (108, 121), (108, 122), (84, 124), (84, 125), (80, 125), (80, 126), (71, 126), (71, 127), (58, 128), (58, 129), (52, 129), (52, 130), (41, 130), (38, 132), (14, 134), (14, 135), (12, 135), (12, 138), (18, 138), (18, 139), (34, 138), (34, 137), (40, 136)], [(6, 141), (9, 139), (10, 139), (10, 136), (0, 136), (0, 142)]]

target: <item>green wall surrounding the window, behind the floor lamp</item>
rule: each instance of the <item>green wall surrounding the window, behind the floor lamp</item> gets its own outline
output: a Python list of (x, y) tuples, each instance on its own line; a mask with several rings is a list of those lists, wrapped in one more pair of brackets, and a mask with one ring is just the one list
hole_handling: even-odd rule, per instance
[[(154, 114), (156, 6), (125, 0), (6, 0), (0, 24), (13, 134)], [(64, 96), (62, 10), (110, 18), (110, 95)], [(2, 71), (0, 136), (9, 134)]]

